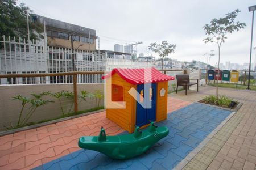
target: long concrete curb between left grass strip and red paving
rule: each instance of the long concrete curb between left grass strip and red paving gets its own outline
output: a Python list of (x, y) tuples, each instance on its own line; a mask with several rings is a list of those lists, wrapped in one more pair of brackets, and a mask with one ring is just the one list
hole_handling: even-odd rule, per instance
[(22, 128), (1, 131), (0, 132), (0, 137), (3, 136), (3, 135), (7, 135), (7, 134), (11, 134), (11, 133), (16, 133), (16, 132), (19, 132), (19, 131), (24, 131), (24, 130), (33, 129), (33, 128), (39, 128), (41, 126), (46, 126), (46, 125), (49, 125), (49, 124), (56, 124), (57, 122), (61, 122), (61, 121), (65, 121), (65, 120), (71, 120), (72, 118), (77, 118), (77, 117), (82, 117), (82, 116), (86, 116), (86, 115), (89, 115), (89, 114), (103, 112), (105, 110), (106, 109), (100, 109), (100, 110), (97, 110), (97, 111), (92, 111), (92, 112), (77, 114), (77, 115), (74, 115), (74, 116), (59, 118), (59, 119), (56, 119), (56, 120), (52, 120), (52, 121), (48, 121), (48, 122), (43, 122), (43, 123), (40, 123), (40, 124), (31, 125), (31, 126), (25, 126), (25, 127), (22, 127)]

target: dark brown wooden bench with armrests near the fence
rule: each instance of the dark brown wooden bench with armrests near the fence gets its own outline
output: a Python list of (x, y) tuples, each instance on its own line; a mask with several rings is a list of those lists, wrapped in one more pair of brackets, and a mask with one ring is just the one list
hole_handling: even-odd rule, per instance
[[(198, 92), (198, 79), (189, 79), (188, 74), (180, 74), (176, 75), (176, 80), (177, 80), (177, 88), (178, 86), (183, 86), (185, 87), (185, 94), (187, 95), (187, 90), (189, 90), (189, 86), (197, 84), (197, 92)], [(197, 80), (197, 82), (190, 82), (190, 80)], [(177, 88), (176, 88), (176, 93), (177, 93)]]

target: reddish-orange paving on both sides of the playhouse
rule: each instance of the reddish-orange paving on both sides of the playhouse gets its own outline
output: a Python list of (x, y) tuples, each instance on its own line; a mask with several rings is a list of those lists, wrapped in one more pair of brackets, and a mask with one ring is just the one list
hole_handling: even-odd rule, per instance
[[(168, 97), (168, 113), (188, 104)], [(101, 126), (107, 135), (125, 131), (104, 111), (0, 137), (0, 169), (31, 169), (77, 151), (79, 137), (98, 135)]]

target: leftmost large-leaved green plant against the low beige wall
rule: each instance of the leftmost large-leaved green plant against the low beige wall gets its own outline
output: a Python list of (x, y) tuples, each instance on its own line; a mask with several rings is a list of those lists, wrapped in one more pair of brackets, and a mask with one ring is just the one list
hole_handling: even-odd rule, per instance
[[(23, 97), (21, 95), (17, 95), (17, 96), (14, 96), (14, 97), (11, 97), (12, 100), (19, 100), (22, 102), (22, 108), (20, 109), (20, 113), (19, 113), (19, 119), (18, 119), (18, 123), (16, 126), (13, 126), (13, 124), (11, 124), (11, 127), (12, 128), (15, 128), (15, 127), (20, 127), (20, 126), (24, 126), (27, 121), (30, 119), (30, 117), (32, 116), (32, 114), (36, 111), (36, 109), (44, 104), (47, 104), (49, 102), (53, 102), (51, 100), (43, 100), (41, 97), (42, 96), (47, 96), (49, 95), (50, 92), (43, 92), (39, 95), (37, 94), (31, 94), (32, 96), (35, 97), (35, 99), (30, 99), (28, 97)], [(22, 115), (24, 114), (24, 108), (27, 104), (30, 104), (30, 107), (27, 109), (27, 112), (25, 113), (25, 117), (22, 119)]]

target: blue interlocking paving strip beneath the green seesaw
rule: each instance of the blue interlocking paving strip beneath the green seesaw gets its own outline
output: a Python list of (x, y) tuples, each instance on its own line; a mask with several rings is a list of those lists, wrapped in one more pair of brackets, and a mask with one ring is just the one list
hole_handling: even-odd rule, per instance
[(34, 169), (172, 169), (230, 114), (230, 111), (193, 103), (168, 114), (158, 126), (170, 134), (133, 159), (113, 160), (96, 151), (79, 150)]

